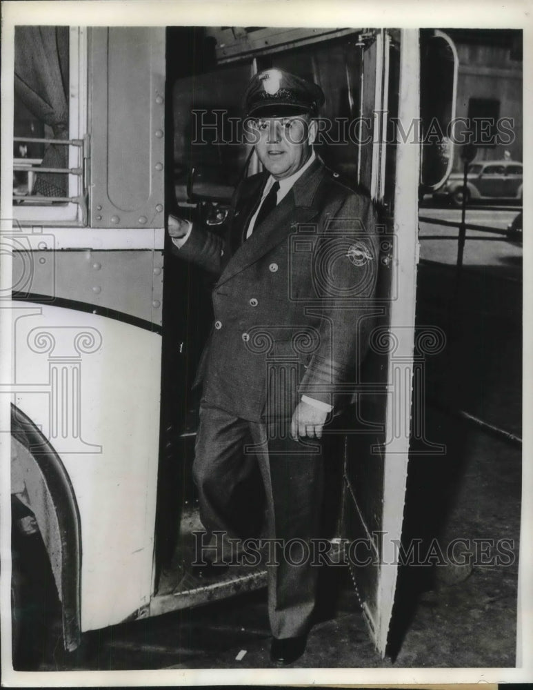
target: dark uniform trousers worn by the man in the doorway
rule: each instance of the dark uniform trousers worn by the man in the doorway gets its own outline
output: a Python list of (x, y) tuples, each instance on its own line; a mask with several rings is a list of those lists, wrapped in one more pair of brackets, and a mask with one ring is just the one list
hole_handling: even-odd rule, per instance
[(289, 425), (285, 419), (250, 422), (203, 401), (193, 464), (203, 526), (208, 534), (237, 538), (248, 535), (247, 525), (237, 524), (242, 487), (259, 469), (263, 535), (281, 544), (277, 558), (267, 561), (270, 628), (279, 639), (310, 628), (318, 575), (310, 540), (319, 536), (323, 500), (321, 442), (292, 440)]

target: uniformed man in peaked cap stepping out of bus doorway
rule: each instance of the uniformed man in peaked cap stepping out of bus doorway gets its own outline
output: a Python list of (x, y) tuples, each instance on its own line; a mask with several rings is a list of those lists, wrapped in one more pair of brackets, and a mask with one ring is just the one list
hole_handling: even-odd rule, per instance
[[(193, 466), (212, 535), (242, 535), (239, 487), (259, 463), (268, 536), (299, 544), (268, 565), (271, 658), (305, 650), (319, 536), (323, 427), (365, 350), (377, 274), (374, 208), (313, 150), (321, 88), (281, 69), (255, 75), (245, 115), (264, 172), (237, 188), (219, 237), (169, 217), (177, 254), (216, 277), (214, 329), (200, 365), (203, 395)], [(237, 516), (237, 517), (236, 517)]]

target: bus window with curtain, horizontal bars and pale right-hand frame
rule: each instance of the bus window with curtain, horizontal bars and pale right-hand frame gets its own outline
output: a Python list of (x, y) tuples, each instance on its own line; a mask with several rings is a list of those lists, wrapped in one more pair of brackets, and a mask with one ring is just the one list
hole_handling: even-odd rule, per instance
[[(14, 215), (24, 223), (81, 221), (86, 132), (83, 30), (14, 32)], [(83, 76), (81, 76), (83, 75)]]

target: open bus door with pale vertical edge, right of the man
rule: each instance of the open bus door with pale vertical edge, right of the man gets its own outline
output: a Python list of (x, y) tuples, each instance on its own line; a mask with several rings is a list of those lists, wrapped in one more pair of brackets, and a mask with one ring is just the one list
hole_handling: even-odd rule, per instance
[(341, 538), (363, 615), (383, 656), (396, 588), (410, 438), (419, 146), (396, 137), (419, 110), (416, 31), (361, 32), (357, 174), (381, 210), (370, 350), (347, 420)]

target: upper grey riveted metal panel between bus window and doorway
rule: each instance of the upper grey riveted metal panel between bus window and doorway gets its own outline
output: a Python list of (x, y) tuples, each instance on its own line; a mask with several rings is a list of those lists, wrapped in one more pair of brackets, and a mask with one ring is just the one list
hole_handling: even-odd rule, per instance
[(91, 226), (162, 227), (164, 30), (92, 29), (89, 94)]

